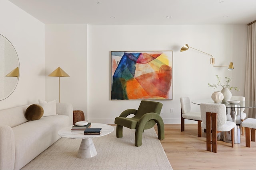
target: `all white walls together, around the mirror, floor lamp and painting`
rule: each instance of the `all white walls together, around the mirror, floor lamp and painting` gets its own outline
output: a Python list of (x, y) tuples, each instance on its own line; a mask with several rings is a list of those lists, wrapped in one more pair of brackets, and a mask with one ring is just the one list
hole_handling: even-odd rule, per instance
[[(18, 86), (0, 101), (0, 109), (38, 98), (58, 100), (58, 78), (48, 74), (60, 66), (70, 75), (60, 78), (61, 102), (83, 110), (88, 121), (114, 123), (124, 109), (138, 108), (140, 101), (110, 100), (110, 51), (173, 51), (173, 100), (160, 100), (165, 123), (180, 123), (181, 96), (210, 98), (216, 89), (208, 83), (216, 83), (216, 74), (232, 77), (231, 85), (240, 88), (233, 95), (244, 95), (247, 25), (47, 24), (44, 31), (43, 23), (7, 0), (0, 1), (0, 14), (8, 16), (1, 18), (0, 33), (20, 59)], [(235, 69), (214, 68), (209, 56), (193, 49), (180, 53), (186, 43), (213, 55), (216, 65), (233, 61)], [(192, 109), (200, 110), (193, 104)]]

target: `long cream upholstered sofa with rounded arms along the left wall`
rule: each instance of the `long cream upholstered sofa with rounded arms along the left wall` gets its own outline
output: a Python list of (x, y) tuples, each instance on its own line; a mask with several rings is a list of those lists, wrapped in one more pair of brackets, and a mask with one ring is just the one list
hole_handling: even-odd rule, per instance
[(0, 110), (0, 169), (20, 169), (55, 143), (58, 131), (73, 123), (73, 107), (56, 103), (56, 114), (28, 121), (30, 105)]

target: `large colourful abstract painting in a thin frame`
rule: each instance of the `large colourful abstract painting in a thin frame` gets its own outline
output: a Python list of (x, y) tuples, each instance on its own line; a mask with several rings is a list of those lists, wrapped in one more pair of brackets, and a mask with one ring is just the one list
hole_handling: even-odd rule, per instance
[(172, 51), (111, 51), (111, 100), (172, 100)]

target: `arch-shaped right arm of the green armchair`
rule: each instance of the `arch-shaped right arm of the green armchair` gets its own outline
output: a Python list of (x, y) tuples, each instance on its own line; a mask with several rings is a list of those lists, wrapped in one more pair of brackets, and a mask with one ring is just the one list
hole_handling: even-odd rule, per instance
[(164, 139), (164, 121), (160, 115), (157, 113), (151, 112), (144, 114), (140, 120), (138, 121), (136, 131), (135, 131), (135, 146), (140, 147), (142, 145), (142, 133), (144, 130), (144, 126), (150, 120), (156, 121), (157, 129), (158, 129), (158, 139)]

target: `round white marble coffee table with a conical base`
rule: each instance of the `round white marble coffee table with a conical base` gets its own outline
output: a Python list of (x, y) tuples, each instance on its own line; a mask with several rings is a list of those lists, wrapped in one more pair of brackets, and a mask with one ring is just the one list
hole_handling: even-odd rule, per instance
[(58, 131), (58, 135), (70, 139), (82, 139), (79, 150), (78, 158), (92, 158), (97, 155), (92, 138), (102, 137), (114, 131), (114, 127), (102, 123), (92, 123), (90, 128), (102, 128), (100, 135), (84, 135), (84, 131), (71, 131), (71, 127), (65, 127)]

